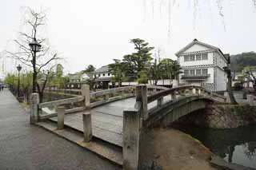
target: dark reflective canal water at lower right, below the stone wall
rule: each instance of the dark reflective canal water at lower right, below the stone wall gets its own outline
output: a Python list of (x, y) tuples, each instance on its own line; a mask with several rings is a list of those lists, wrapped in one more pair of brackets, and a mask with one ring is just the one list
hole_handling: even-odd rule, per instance
[(171, 128), (190, 134), (228, 162), (256, 168), (256, 125), (214, 129), (175, 124), (171, 125)]

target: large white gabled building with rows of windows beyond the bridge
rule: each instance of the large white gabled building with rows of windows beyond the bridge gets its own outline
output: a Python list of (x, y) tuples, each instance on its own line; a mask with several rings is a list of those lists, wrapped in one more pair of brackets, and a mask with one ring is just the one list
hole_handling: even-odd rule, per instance
[(194, 39), (175, 53), (182, 73), (180, 85), (200, 85), (212, 91), (226, 91), (227, 57), (222, 50)]

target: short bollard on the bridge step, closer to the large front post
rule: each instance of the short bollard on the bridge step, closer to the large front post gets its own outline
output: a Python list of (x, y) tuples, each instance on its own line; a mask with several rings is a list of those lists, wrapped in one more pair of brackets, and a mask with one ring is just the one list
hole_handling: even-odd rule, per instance
[(93, 138), (90, 112), (82, 114), (82, 121), (83, 121), (84, 140), (85, 140), (85, 142), (90, 142), (90, 140), (92, 140), (92, 138)]

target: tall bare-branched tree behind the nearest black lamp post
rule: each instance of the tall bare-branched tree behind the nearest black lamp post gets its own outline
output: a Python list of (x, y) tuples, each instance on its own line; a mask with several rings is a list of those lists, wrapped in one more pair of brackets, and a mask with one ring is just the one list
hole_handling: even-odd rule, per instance
[[(60, 57), (50, 48), (46, 38), (46, 13), (32, 10), (30, 7), (22, 8), (22, 12), (22, 29), (18, 32), (18, 38), (14, 39), (12, 49), (6, 52), (8, 57), (18, 60), (33, 70), (32, 89), (33, 93), (36, 93), (36, 89), (40, 90), (37, 85), (38, 73)], [(41, 46), (36, 55), (30, 48), (31, 42), (37, 42)]]

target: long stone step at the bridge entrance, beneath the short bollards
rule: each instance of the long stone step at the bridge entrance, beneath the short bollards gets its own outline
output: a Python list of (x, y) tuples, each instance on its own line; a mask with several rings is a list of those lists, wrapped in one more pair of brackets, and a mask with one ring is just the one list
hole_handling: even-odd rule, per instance
[(93, 138), (92, 141), (86, 143), (83, 141), (83, 134), (78, 130), (73, 128), (69, 128), (65, 126), (63, 129), (58, 129), (57, 124), (53, 121), (41, 121), (36, 125), (57, 134), (58, 136), (63, 137), (66, 140), (73, 142), (74, 144), (78, 144), (82, 148), (86, 148), (91, 152), (96, 153), (98, 156), (102, 156), (106, 160), (110, 160), (114, 164), (118, 164), (122, 166), (122, 148), (118, 147), (114, 144), (109, 144), (103, 140), (98, 138)]

